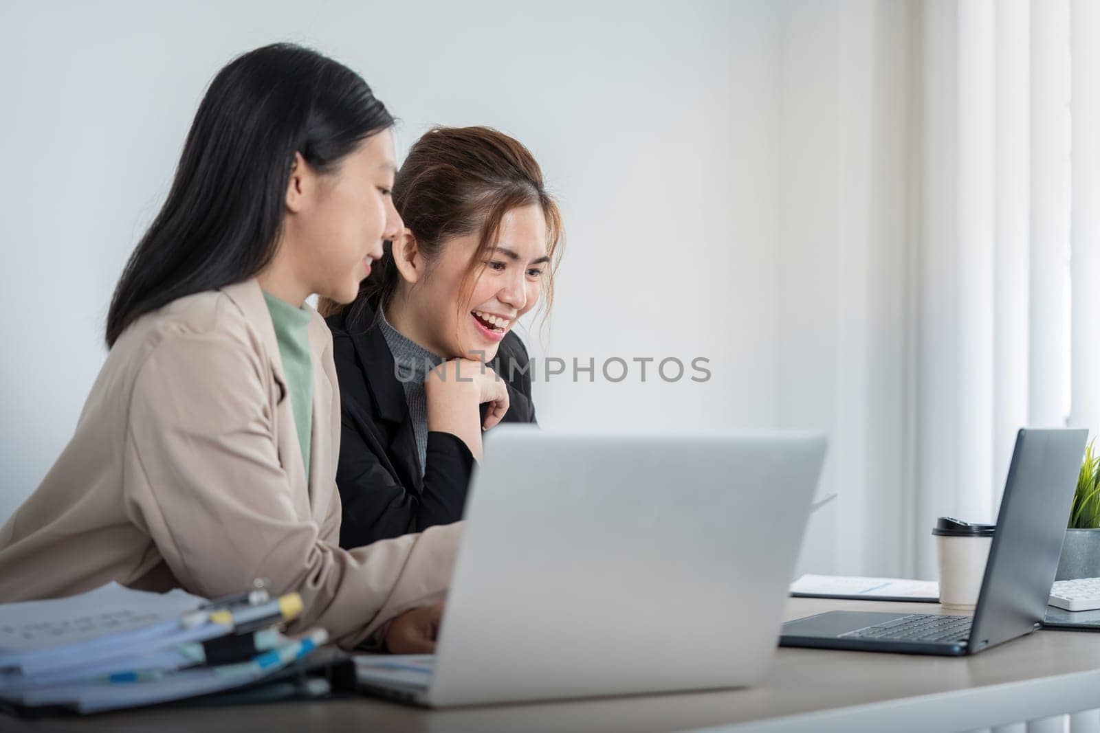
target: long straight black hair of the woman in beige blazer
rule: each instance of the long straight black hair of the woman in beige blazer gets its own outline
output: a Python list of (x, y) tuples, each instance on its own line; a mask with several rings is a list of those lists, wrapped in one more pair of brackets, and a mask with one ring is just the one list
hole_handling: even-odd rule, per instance
[(271, 262), (296, 152), (331, 171), (393, 124), (358, 74), (309, 48), (277, 43), (230, 62), (210, 82), (168, 198), (114, 289), (108, 347), (141, 315)]

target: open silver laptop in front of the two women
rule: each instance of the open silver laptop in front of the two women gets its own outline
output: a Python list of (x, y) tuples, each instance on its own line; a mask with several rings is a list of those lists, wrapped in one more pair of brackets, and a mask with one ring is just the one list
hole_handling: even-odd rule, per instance
[(360, 655), (361, 688), (442, 707), (759, 681), (824, 455), (793, 433), (498, 426), (436, 654)]

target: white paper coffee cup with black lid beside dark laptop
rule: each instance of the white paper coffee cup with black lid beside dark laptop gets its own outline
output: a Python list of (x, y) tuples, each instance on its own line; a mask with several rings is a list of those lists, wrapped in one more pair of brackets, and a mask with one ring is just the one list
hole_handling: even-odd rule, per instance
[(945, 609), (972, 611), (978, 604), (996, 529), (950, 517), (936, 521), (932, 534), (939, 565), (939, 603)]

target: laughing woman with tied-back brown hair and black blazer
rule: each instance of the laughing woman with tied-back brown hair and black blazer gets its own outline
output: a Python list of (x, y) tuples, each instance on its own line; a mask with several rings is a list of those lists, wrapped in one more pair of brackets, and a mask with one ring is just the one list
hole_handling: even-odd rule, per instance
[(458, 521), (482, 432), (535, 422), (513, 327), (540, 298), (549, 307), (560, 257), (538, 163), (495, 130), (429, 131), (393, 197), (403, 232), (354, 302), (322, 304), (342, 404), (344, 547)]

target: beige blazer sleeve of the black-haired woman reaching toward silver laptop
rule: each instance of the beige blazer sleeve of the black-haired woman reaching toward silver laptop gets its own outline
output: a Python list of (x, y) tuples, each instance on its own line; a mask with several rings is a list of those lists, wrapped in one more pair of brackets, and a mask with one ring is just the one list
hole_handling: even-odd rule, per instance
[(461, 525), (353, 551), (323, 537), (296, 511), (302, 498), (278, 460), (263, 368), (250, 345), (220, 332), (156, 346), (131, 398), (128, 514), (188, 591), (221, 596), (267, 578), (275, 592), (302, 597), (292, 631), (320, 625), (350, 648), (441, 600)]

